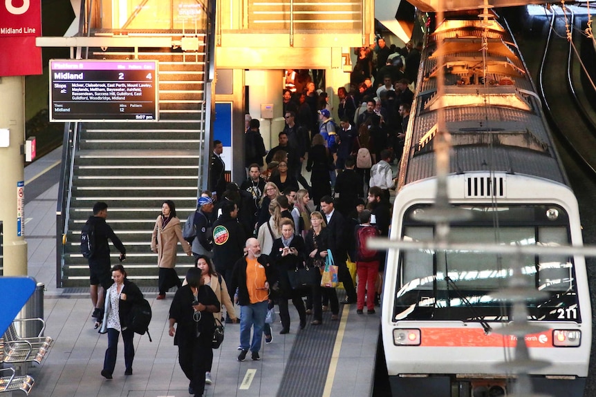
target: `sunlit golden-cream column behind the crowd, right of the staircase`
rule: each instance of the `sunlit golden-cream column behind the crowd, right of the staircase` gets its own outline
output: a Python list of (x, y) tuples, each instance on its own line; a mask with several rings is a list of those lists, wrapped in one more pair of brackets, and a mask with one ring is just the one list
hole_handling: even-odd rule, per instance
[[(248, 70), (245, 72), (245, 84), (250, 87), (248, 111), (253, 119), (259, 119), (261, 122), (261, 136), (263, 136), (265, 148), (269, 150), (279, 144), (277, 134), (286, 125), (281, 114), (283, 71)], [(273, 119), (261, 117), (261, 104), (273, 104)]]

